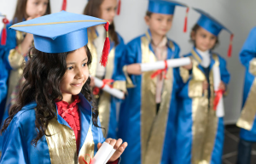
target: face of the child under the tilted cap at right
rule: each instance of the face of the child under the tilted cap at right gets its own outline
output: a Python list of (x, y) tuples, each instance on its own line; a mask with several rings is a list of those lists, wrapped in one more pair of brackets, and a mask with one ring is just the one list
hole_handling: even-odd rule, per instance
[(195, 41), (196, 48), (207, 51), (215, 46), (217, 37), (200, 27), (197, 31), (192, 32), (192, 40)]

